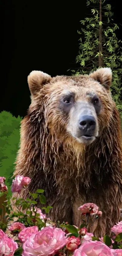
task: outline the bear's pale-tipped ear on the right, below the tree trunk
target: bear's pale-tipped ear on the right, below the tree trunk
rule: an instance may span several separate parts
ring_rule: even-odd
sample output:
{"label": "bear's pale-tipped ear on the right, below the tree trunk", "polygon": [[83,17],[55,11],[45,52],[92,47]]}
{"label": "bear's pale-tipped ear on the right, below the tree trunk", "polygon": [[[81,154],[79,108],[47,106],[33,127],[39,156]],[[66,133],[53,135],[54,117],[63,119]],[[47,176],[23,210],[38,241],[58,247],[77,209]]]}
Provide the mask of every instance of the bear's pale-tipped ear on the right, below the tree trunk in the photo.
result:
{"label": "bear's pale-tipped ear on the right, below the tree trunk", "polygon": [[100,82],[107,90],[110,89],[112,81],[112,71],[110,67],[99,68],[89,75],[90,78]]}

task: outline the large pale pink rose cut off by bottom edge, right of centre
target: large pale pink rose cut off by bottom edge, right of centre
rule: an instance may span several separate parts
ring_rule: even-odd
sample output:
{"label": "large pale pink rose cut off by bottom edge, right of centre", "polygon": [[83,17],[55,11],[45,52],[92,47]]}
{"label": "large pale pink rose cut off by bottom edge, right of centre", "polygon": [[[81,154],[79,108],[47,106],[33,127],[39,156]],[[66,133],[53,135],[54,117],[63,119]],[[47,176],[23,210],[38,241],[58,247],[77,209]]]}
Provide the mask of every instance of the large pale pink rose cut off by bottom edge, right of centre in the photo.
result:
{"label": "large pale pink rose cut off by bottom edge, right of centre", "polygon": [[[77,250],[74,251],[73,256],[114,256],[111,249],[99,241],[84,243]],[[83,252],[85,254],[81,254]]]}

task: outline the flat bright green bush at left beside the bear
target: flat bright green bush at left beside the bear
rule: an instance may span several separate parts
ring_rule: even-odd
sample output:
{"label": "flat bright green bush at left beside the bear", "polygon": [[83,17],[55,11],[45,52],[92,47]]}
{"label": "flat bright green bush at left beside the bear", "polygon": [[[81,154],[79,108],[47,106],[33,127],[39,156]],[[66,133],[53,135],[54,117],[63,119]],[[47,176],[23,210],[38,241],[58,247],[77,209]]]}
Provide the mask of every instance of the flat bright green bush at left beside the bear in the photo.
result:
{"label": "flat bright green bush at left beside the bear", "polygon": [[15,167],[20,141],[20,122],[22,118],[11,113],[0,113],[0,173],[6,177],[8,192],[11,193],[12,175]]}

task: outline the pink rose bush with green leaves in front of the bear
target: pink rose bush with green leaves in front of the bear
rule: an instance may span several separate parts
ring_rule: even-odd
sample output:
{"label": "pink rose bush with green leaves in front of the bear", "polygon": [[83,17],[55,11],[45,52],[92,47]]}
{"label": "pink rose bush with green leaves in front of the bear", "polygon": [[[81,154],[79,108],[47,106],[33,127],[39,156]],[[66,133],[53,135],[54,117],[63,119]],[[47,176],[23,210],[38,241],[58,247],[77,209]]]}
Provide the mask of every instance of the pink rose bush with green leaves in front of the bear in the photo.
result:
{"label": "pink rose bush with green leaves in front of the bear", "polygon": [[[17,175],[12,182],[12,192],[20,193],[21,189],[28,189],[30,182],[29,177]],[[7,191],[5,178],[0,177],[0,197],[4,193],[7,196],[4,204],[6,223],[0,222],[0,256],[122,256],[122,221],[112,227],[112,239],[108,235],[99,238],[87,232],[89,216],[95,215],[96,220],[102,215],[96,204],[87,203],[78,208],[87,218],[80,227],[76,227],[68,222],[53,223],[48,218],[46,214],[52,207],[45,207],[43,189],[30,193],[26,199],[10,198]],[[36,200],[44,207],[37,208]],[[11,237],[6,231],[11,233]]]}

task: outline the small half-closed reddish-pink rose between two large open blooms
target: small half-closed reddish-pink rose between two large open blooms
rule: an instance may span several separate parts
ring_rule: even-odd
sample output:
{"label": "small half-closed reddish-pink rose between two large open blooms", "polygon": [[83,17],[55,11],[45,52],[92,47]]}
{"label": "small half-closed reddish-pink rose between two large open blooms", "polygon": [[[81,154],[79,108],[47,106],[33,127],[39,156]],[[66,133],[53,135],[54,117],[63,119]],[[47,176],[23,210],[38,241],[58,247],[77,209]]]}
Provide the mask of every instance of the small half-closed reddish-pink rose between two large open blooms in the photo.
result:
{"label": "small half-closed reddish-pink rose between two large open blooms", "polygon": [[75,237],[75,236],[71,236],[68,237],[67,243],[66,243],[66,247],[69,251],[74,251],[75,249],[77,249],[78,245],[80,245],[80,239]]}

